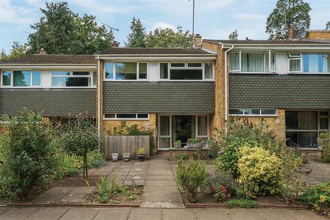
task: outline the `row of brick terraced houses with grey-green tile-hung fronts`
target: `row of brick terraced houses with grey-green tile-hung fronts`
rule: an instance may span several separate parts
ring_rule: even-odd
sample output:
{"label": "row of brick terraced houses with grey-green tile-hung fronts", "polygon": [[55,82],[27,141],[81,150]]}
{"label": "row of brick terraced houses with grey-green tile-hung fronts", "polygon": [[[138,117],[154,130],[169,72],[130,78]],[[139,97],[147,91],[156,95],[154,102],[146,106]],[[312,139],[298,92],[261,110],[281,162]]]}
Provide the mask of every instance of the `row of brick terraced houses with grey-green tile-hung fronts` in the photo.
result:
{"label": "row of brick terraced houses with grey-green tile-hung fronts", "polygon": [[0,115],[28,107],[65,122],[87,112],[103,133],[122,122],[153,129],[159,151],[213,138],[230,117],[266,118],[278,139],[315,148],[318,134],[330,131],[329,33],[300,41],[197,34],[191,49],[113,47],[2,61]]}

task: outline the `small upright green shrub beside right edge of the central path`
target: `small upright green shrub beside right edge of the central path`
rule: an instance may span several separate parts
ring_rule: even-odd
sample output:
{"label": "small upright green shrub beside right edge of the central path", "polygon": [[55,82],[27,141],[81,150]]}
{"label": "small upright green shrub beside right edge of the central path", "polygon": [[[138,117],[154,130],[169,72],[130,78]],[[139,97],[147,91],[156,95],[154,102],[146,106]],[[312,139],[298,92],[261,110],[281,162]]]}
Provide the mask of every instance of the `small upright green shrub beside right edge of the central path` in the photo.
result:
{"label": "small upright green shrub beside right edge of the central path", "polygon": [[205,162],[190,158],[185,164],[180,162],[177,166],[177,182],[187,192],[189,201],[197,201],[197,191],[208,177]]}

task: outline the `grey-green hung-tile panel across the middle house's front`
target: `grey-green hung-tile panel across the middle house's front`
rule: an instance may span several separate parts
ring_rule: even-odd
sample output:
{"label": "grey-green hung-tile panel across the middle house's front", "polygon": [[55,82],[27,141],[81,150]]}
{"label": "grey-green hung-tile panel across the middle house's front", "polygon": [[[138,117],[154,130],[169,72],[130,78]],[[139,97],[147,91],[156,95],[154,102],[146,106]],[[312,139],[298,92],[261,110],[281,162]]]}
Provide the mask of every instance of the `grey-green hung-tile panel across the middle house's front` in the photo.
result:
{"label": "grey-green hung-tile panel across the middle house's front", "polygon": [[214,82],[104,82],[104,113],[214,113]]}

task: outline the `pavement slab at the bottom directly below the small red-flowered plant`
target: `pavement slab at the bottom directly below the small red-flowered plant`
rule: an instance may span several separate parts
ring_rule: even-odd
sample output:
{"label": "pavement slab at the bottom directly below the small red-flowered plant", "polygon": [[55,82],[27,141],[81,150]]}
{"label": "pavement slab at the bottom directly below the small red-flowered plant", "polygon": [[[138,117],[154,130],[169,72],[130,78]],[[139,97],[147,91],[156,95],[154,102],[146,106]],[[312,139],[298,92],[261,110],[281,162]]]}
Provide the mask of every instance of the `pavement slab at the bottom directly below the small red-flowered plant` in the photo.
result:
{"label": "pavement slab at the bottom directly below the small red-flowered plant", "polygon": [[196,208],[194,211],[197,220],[231,220],[229,213],[224,208]]}

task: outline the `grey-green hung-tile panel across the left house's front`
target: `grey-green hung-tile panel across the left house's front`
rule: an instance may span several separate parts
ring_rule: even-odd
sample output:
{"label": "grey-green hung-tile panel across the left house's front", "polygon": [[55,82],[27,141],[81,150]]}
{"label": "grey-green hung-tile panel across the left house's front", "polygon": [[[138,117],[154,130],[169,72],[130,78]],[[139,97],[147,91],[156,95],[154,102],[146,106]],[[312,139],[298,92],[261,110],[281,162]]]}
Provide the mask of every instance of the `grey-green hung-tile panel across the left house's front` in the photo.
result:
{"label": "grey-green hung-tile panel across the left house's front", "polygon": [[44,116],[96,115],[96,89],[0,89],[0,115],[24,107]]}

